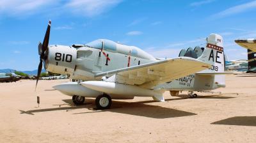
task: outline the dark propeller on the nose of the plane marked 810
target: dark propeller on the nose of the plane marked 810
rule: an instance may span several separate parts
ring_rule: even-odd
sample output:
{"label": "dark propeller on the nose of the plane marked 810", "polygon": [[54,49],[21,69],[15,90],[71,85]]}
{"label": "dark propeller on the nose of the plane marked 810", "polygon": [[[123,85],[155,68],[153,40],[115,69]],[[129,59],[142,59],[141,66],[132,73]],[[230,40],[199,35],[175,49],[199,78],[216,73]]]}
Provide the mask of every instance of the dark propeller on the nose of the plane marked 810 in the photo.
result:
{"label": "dark propeller on the nose of the plane marked 810", "polygon": [[45,54],[45,51],[48,48],[48,44],[49,44],[49,38],[50,38],[50,31],[51,31],[51,20],[49,21],[49,24],[47,26],[47,30],[44,36],[44,42],[43,44],[41,42],[39,42],[38,44],[38,54],[40,55],[40,63],[38,65],[38,70],[37,70],[37,76],[36,76],[36,86],[38,83],[38,79],[40,77],[40,74],[42,72],[42,68],[43,68],[43,61],[45,59],[47,59],[47,54]]}

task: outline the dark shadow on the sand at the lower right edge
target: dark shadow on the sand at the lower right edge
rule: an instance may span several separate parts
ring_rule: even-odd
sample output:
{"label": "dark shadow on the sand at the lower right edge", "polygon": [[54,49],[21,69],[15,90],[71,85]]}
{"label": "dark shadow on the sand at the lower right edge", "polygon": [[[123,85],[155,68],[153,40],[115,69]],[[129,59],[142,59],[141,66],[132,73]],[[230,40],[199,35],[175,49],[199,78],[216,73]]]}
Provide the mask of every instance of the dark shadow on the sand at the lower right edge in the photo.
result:
{"label": "dark shadow on the sand at the lower right edge", "polygon": [[236,116],[229,117],[211,124],[225,124],[236,126],[256,126],[256,116]]}

